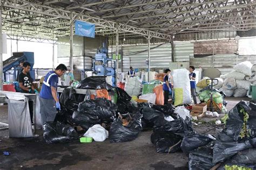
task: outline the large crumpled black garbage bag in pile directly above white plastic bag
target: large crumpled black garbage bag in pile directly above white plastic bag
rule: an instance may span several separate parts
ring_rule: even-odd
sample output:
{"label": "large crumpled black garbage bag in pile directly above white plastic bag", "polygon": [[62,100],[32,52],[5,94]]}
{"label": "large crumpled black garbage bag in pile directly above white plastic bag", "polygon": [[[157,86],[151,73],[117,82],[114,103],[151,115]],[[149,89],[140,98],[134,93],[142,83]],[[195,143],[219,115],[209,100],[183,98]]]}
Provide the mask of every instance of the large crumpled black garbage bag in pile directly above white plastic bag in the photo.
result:
{"label": "large crumpled black garbage bag in pile directly above white plastic bag", "polygon": [[77,111],[90,113],[95,119],[97,117],[101,122],[109,123],[116,116],[117,105],[106,98],[96,98],[79,103]]}

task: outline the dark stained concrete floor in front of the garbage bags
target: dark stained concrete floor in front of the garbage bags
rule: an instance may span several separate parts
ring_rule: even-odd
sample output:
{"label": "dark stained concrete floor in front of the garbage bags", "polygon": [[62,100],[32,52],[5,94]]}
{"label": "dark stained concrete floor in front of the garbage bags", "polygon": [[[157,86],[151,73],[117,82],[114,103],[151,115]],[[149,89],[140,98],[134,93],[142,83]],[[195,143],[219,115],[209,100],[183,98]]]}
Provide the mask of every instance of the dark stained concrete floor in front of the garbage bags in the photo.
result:
{"label": "dark stained concrete floor in front of the garbage bags", "polygon": [[[226,98],[230,110],[240,100]],[[223,116],[223,115],[221,115]],[[204,118],[204,121],[219,118]],[[0,122],[8,123],[6,105],[0,106]],[[194,129],[203,133],[214,124],[199,124]],[[221,129],[208,133],[217,134]],[[112,144],[79,141],[63,144],[45,144],[41,134],[35,138],[9,138],[8,130],[0,131],[0,169],[188,169],[188,157],[182,153],[159,154],[150,141],[151,131],[141,132],[136,140]],[[11,152],[4,156],[3,151]]]}

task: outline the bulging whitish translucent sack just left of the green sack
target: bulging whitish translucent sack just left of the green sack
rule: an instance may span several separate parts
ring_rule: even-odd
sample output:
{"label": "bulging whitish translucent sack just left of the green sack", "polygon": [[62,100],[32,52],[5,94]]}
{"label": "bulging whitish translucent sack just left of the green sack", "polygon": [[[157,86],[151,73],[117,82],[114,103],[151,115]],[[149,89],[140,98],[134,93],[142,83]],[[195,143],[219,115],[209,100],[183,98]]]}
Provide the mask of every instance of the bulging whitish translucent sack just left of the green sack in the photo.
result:
{"label": "bulging whitish translucent sack just left of the green sack", "polygon": [[126,79],[124,90],[130,96],[138,96],[140,94],[140,84],[138,77],[129,77]]}

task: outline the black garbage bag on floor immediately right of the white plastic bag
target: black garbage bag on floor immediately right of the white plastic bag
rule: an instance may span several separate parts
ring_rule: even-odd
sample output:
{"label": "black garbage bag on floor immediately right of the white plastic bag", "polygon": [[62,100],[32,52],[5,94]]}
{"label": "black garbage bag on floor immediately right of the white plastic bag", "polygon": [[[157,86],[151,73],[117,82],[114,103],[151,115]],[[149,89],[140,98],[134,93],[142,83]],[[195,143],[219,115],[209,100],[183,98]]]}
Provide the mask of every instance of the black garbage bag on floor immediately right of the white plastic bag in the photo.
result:
{"label": "black garbage bag on floor immediately right of the white plastic bag", "polygon": [[136,139],[142,131],[141,118],[142,115],[138,112],[127,126],[123,125],[121,118],[114,119],[109,131],[110,142],[119,143]]}

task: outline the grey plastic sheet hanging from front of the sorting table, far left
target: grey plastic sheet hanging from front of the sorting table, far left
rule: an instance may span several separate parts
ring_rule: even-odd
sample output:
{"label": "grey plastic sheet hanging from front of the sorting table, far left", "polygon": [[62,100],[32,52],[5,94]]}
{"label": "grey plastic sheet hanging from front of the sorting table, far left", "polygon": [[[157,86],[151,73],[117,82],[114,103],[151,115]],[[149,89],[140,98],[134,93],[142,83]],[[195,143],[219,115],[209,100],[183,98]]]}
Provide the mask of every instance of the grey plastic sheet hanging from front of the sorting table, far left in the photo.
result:
{"label": "grey plastic sheet hanging from front of the sorting table, far left", "polygon": [[10,138],[33,137],[29,102],[7,99]]}

